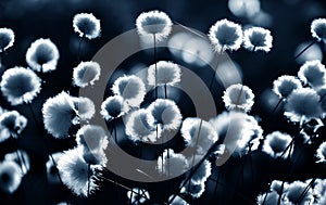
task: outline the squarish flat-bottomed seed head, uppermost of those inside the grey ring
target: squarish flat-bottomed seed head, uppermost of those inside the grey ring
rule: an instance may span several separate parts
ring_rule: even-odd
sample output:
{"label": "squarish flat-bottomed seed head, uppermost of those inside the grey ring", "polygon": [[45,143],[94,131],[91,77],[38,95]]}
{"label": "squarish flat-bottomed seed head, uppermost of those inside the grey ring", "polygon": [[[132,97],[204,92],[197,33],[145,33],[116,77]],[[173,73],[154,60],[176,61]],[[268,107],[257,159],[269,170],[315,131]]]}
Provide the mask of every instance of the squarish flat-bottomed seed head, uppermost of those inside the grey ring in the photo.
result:
{"label": "squarish flat-bottomed seed head, uppermost of those inside the grey ring", "polygon": [[[156,66],[156,72],[155,72]],[[180,82],[181,71],[180,67],[172,62],[159,61],[148,68],[148,84],[150,86],[175,86]],[[155,82],[155,80],[158,80]]]}

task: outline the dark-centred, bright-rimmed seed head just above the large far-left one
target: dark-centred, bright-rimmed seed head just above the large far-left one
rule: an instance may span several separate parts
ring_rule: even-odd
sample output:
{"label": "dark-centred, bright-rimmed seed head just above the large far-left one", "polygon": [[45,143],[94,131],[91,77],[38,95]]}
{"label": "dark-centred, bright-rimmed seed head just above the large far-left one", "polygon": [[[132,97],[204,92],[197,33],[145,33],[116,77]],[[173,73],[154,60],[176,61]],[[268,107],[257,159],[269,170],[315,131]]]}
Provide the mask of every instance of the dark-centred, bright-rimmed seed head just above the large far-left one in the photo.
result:
{"label": "dark-centred, bright-rimmed seed head just above the large far-left one", "polygon": [[26,62],[32,69],[48,73],[57,69],[59,56],[57,46],[50,39],[40,38],[28,48]]}

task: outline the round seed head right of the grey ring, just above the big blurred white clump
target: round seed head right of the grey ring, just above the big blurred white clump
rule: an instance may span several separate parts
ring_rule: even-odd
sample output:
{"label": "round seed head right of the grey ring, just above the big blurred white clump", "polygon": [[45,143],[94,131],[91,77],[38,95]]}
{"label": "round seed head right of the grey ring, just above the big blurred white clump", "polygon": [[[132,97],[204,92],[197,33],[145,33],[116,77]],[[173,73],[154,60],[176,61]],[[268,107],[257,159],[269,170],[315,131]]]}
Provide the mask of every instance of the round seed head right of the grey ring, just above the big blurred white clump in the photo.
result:
{"label": "round seed head right of the grey ring, just above the big blurred white clump", "polygon": [[254,94],[249,87],[236,84],[229,86],[224,91],[223,101],[228,111],[239,110],[249,112],[253,105],[253,98]]}

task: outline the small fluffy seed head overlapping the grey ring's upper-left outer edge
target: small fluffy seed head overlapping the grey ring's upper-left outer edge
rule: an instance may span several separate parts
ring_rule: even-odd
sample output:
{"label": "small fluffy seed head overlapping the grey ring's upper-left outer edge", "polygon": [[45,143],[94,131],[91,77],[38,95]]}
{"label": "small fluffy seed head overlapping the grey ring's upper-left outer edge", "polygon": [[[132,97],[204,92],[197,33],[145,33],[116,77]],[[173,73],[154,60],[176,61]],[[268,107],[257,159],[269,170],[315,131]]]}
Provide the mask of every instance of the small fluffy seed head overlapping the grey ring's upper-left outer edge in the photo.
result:
{"label": "small fluffy seed head overlapping the grey ring's upper-left outer edge", "polygon": [[93,86],[95,81],[100,79],[101,67],[97,62],[80,62],[73,72],[73,84],[77,87],[85,88]]}

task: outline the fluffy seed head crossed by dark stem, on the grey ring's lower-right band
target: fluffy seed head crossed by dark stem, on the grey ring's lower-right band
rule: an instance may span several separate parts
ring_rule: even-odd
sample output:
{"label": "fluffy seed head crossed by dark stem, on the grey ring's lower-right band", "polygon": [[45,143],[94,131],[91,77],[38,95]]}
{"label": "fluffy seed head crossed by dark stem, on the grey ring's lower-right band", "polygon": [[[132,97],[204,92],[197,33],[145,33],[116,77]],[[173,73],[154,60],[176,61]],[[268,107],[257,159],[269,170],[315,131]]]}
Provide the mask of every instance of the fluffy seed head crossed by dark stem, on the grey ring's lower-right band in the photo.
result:
{"label": "fluffy seed head crossed by dark stem, on the grey ring's lower-right band", "polygon": [[186,144],[198,154],[204,154],[218,140],[213,126],[200,118],[186,118],[180,131]]}

